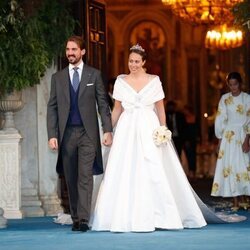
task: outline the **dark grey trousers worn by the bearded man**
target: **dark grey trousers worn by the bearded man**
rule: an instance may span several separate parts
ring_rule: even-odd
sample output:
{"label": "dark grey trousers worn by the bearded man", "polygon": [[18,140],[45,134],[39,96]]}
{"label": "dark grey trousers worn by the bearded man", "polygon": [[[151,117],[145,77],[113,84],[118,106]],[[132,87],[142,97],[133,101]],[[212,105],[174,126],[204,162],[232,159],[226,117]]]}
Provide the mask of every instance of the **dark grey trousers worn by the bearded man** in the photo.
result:
{"label": "dark grey trousers worn by the bearded man", "polygon": [[89,221],[96,150],[83,126],[66,127],[61,154],[72,220]]}

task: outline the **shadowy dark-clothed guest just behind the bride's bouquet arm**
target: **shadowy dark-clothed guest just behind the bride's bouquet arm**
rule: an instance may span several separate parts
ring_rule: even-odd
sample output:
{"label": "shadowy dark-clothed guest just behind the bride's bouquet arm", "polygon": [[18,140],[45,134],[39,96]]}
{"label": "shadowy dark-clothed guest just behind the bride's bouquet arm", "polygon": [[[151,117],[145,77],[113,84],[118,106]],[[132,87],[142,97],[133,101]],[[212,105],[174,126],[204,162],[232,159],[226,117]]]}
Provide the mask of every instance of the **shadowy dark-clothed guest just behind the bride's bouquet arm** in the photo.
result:
{"label": "shadowy dark-clothed guest just behind the bride's bouquet arm", "polygon": [[168,101],[166,104],[167,126],[172,132],[175,148],[181,159],[181,152],[185,142],[186,119],[185,115],[176,110],[176,103]]}

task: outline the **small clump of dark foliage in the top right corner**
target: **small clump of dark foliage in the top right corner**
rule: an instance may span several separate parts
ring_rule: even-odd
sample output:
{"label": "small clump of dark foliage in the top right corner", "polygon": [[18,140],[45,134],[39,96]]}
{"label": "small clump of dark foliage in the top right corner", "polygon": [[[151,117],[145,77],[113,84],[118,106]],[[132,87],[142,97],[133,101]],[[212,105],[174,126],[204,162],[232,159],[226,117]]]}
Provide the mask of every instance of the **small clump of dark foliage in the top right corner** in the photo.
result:
{"label": "small clump of dark foliage in the top right corner", "polygon": [[246,33],[250,32],[250,1],[244,0],[236,4],[232,9],[234,15],[234,24],[243,28]]}

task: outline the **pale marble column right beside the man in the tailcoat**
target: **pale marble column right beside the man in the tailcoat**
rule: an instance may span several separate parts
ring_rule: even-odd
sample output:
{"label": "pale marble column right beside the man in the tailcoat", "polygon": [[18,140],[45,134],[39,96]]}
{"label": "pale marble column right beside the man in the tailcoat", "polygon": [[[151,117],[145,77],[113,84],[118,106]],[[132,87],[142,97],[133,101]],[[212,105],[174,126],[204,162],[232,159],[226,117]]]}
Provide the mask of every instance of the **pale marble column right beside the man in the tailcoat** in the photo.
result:
{"label": "pale marble column right beside the man in the tailcoat", "polygon": [[57,152],[48,147],[47,136],[47,102],[50,92],[51,75],[55,67],[47,70],[45,76],[37,85],[37,137],[39,162],[39,197],[45,215],[57,215],[63,212],[58,198],[58,176],[56,173]]}

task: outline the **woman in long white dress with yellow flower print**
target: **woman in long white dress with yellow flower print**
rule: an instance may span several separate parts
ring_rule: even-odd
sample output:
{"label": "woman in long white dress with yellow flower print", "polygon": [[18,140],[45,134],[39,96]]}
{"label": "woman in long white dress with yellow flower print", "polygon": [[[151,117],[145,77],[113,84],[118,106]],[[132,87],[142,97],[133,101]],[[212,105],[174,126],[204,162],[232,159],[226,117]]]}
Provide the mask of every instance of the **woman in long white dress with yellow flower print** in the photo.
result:
{"label": "woman in long white dress with yellow flower print", "polygon": [[250,96],[241,90],[238,72],[229,73],[226,81],[230,92],[221,97],[215,119],[219,152],[211,195],[233,197],[237,211],[239,198],[243,202],[250,195]]}

